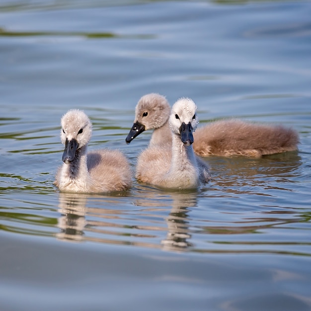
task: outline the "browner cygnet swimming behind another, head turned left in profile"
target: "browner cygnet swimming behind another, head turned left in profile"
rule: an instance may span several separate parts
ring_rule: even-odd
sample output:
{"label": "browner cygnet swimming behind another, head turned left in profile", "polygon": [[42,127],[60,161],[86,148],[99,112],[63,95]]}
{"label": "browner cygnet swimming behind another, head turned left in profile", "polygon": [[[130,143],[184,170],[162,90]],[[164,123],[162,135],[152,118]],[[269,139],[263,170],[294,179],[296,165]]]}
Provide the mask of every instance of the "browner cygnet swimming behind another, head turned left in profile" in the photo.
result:
{"label": "browner cygnet swimming behind another, head turned left in profile", "polygon": [[[145,130],[154,130],[150,145],[171,143],[169,103],[162,95],[144,95],[135,110],[135,122],[126,138],[129,144]],[[298,134],[281,125],[259,125],[241,120],[221,120],[198,128],[193,150],[199,156],[261,157],[297,150]]]}

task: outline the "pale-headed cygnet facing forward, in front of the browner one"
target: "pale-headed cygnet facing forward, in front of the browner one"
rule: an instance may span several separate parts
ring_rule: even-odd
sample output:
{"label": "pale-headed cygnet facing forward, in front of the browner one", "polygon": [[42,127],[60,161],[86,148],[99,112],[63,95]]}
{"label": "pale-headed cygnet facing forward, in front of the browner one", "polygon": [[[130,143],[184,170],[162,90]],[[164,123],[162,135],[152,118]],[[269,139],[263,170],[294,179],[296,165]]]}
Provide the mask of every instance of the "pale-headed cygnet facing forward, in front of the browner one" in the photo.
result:
{"label": "pale-headed cygnet facing forward, in front of the browner one", "polygon": [[172,144],[148,147],[138,158],[138,181],[170,189],[194,189],[208,182],[208,167],[195,156],[193,131],[197,106],[189,98],[175,102],[169,117]]}

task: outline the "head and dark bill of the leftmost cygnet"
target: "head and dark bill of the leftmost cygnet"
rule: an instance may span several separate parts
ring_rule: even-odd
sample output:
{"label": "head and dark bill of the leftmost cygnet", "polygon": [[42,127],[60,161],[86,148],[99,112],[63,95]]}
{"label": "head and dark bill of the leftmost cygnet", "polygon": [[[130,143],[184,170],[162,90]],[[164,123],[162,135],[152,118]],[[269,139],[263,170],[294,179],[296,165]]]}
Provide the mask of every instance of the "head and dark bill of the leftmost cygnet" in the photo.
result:
{"label": "head and dark bill of the leftmost cygnet", "polygon": [[61,120],[61,141],[65,145],[63,161],[72,162],[77,151],[87,146],[92,135],[92,124],[88,116],[81,110],[69,110]]}

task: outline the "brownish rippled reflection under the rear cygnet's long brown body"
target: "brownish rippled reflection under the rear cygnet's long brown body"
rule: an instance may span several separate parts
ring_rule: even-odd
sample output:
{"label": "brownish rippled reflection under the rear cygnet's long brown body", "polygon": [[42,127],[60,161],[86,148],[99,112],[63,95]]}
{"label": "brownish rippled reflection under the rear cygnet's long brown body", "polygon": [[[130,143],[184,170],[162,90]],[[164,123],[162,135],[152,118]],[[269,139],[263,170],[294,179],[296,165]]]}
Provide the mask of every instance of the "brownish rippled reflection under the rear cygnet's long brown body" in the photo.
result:
{"label": "brownish rippled reflection under the rear cygnet's long brown body", "polygon": [[223,195],[231,196],[273,196],[275,192],[270,190],[288,191],[284,185],[295,182],[302,164],[297,152],[261,159],[210,157],[206,160],[211,166],[213,176],[210,190],[218,190]]}

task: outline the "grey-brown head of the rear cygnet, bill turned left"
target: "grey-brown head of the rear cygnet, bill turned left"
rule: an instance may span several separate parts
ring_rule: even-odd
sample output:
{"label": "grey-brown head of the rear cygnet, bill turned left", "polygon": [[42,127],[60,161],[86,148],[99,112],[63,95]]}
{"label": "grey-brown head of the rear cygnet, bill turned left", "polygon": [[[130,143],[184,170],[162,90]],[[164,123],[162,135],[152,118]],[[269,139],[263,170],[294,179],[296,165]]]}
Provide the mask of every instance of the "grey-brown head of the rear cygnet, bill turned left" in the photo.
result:
{"label": "grey-brown head of the rear cygnet, bill turned left", "polygon": [[133,127],[125,140],[127,144],[142,132],[161,127],[167,121],[169,111],[169,103],[164,96],[150,93],[141,97],[136,105]]}

